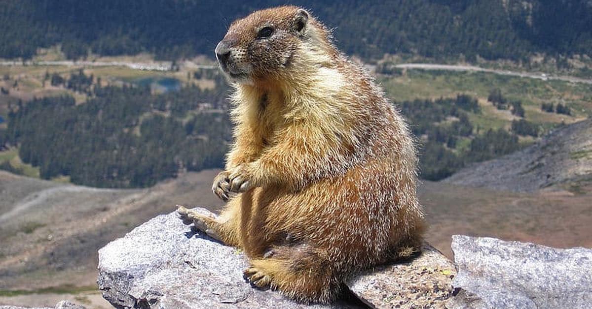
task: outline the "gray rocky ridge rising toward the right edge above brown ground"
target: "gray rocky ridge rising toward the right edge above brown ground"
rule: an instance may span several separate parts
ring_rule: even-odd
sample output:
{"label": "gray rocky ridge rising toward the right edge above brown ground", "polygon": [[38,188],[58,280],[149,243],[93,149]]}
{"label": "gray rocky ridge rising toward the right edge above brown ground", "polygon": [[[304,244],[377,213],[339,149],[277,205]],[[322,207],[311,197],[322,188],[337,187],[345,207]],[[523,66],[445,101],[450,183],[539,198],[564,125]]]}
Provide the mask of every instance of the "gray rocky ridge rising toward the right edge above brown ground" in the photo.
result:
{"label": "gray rocky ridge rising toward the right edge above brown ground", "polygon": [[592,119],[556,129],[522,151],[469,165],[443,181],[516,192],[577,192],[592,183]]}

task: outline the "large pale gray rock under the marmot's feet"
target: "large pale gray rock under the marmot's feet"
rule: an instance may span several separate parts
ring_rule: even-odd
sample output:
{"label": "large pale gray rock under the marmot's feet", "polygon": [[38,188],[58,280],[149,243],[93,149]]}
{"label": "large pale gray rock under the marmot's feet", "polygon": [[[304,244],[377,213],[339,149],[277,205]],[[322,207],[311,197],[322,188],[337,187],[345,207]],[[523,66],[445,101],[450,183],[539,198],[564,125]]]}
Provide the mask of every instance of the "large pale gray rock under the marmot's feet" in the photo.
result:
{"label": "large pale gray rock under the marmot's feet", "polygon": [[117,308],[355,308],[306,306],[243,280],[247,261],[183,225],[175,213],[157,216],[99,250],[99,288]]}

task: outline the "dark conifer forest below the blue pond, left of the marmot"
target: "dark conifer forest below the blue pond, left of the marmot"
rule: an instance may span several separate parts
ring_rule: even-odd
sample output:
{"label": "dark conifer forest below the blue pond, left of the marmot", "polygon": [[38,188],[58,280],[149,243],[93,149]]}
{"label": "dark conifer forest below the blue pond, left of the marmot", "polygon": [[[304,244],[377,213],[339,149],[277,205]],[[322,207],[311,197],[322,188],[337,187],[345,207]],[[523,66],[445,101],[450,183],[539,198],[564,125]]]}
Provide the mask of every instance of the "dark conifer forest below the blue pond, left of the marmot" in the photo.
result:
{"label": "dark conifer forest below the blue pond, left of the marmot", "polygon": [[[89,76],[72,74],[79,89]],[[180,171],[222,167],[231,141],[226,86],[184,87],[151,94],[149,87],[95,84],[91,99],[44,97],[11,106],[5,139],[41,178],[68,175],[75,184],[147,187]],[[207,102],[207,103],[204,103]],[[206,104],[207,110],[200,112]],[[7,165],[8,167],[8,165]]]}

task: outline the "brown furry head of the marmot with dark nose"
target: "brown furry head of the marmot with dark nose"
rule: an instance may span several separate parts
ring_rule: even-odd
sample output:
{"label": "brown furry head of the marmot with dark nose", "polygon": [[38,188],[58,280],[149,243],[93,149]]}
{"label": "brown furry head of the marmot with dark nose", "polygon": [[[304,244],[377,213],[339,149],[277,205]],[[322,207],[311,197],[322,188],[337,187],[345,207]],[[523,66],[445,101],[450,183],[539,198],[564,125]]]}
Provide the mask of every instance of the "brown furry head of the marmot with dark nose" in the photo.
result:
{"label": "brown furry head of the marmot with dark nose", "polygon": [[305,9],[281,6],[234,21],[215,53],[233,82],[253,83],[289,74],[303,50],[332,54],[330,32]]}

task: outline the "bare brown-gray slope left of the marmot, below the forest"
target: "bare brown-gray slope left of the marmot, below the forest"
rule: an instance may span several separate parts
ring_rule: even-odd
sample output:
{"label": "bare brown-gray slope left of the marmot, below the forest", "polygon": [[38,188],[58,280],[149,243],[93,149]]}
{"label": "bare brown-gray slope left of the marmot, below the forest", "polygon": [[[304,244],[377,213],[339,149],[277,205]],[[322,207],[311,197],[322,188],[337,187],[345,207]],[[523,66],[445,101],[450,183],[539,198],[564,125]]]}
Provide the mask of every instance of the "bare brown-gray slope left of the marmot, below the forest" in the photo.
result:
{"label": "bare brown-gray slope left of the marmot, below the forest", "polygon": [[96,251],[111,240],[170,211],[176,203],[200,200],[217,209],[221,201],[210,189],[215,173],[185,174],[152,188],[115,190],[0,171],[0,290],[36,290],[72,282],[92,287]]}

